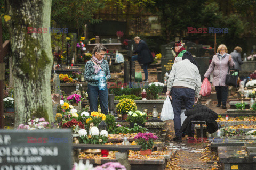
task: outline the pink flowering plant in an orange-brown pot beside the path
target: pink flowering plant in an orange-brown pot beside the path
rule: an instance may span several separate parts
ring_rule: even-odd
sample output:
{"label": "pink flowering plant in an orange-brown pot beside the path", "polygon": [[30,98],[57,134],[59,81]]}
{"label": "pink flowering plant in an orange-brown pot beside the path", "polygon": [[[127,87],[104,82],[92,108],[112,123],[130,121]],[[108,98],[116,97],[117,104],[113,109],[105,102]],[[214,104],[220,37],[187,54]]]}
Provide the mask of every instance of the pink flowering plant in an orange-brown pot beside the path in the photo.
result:
{"label": "pink flowering plant in an orange-brown pot beside the path", "polygon": [[153,133],[138,133],[134,139],[137,141],[138,145],[141,145],[140,154],[150,155],[152,152],[152,147],[154,145],[154,140],[158,139]]}

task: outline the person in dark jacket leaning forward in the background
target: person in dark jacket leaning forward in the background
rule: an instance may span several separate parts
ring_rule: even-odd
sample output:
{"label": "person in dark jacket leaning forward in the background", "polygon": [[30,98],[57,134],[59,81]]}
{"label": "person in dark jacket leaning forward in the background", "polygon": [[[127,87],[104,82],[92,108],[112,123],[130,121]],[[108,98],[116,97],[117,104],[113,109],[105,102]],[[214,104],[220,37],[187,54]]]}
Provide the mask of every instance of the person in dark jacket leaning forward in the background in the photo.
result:
{"label": "person in dark jacket leaning forward in the background", "polygon": [[132,61],[137,60],[139,64],[143,64],[143,70],[145,74],[145,80],[148,81],[148,64],[151,64],[154,61],[154,58],[148,48],[148,45],[145,41],[141,40],[140,37],[135,37],[134,41],[138,44],[137,49],[135,50],[135,54],[132,56]]}

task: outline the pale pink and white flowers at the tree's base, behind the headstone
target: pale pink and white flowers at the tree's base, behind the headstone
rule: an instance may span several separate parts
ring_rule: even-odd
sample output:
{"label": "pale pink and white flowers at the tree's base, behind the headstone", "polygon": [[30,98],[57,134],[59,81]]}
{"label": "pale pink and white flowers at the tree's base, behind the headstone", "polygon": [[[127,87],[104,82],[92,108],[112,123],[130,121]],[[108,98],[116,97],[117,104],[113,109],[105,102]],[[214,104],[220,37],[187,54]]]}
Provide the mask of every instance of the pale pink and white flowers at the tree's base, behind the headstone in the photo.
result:
{"label": "pale pink and white flowers at the tree's base, behind the headstone", "polygon": [[42,118],[29,119],[27,123],[20,124],[18,129],[36,130],[36,129],[46,129],[49,126],[49,122]]}

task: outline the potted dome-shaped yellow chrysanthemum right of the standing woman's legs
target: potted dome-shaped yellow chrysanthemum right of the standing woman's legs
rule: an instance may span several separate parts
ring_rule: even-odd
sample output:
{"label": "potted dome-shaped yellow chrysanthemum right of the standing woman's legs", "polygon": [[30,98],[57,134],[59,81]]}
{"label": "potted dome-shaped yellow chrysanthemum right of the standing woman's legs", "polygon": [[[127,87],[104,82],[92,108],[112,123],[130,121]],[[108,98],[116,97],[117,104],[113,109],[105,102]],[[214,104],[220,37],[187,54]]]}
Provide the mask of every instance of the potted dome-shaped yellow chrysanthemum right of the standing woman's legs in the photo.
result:
{"label": "potted dome-shaped yellow chrysanthemum right of the standing woman's legs", "polygon": [[132,99],[124,98],[118,102],[116,105],[116,112],[122,115],[122,119],[126,120],[128,112],[137,110],[135,101]]}

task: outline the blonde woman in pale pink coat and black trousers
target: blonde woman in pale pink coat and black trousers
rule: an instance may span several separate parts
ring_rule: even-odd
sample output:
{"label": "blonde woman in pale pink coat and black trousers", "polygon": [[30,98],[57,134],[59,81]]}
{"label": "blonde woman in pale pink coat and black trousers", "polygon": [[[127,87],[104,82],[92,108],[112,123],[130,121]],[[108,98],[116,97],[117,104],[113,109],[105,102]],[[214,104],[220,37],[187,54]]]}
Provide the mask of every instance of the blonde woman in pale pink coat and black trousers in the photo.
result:
{"label": "blonde woman in pale pink coat and black trousers", "polygon": [[234,62],[231,55],[228,54],[228,49],[224,44],[219,45],[216,55],[212,57],[212,62],[204,74],[204,77],[208,78],[213,71],[213,86],[216,88],[216,95],[218,104],[226,109],[228,86],[225,84],[226,76],[228,74],[228,66],[233,67]]}

